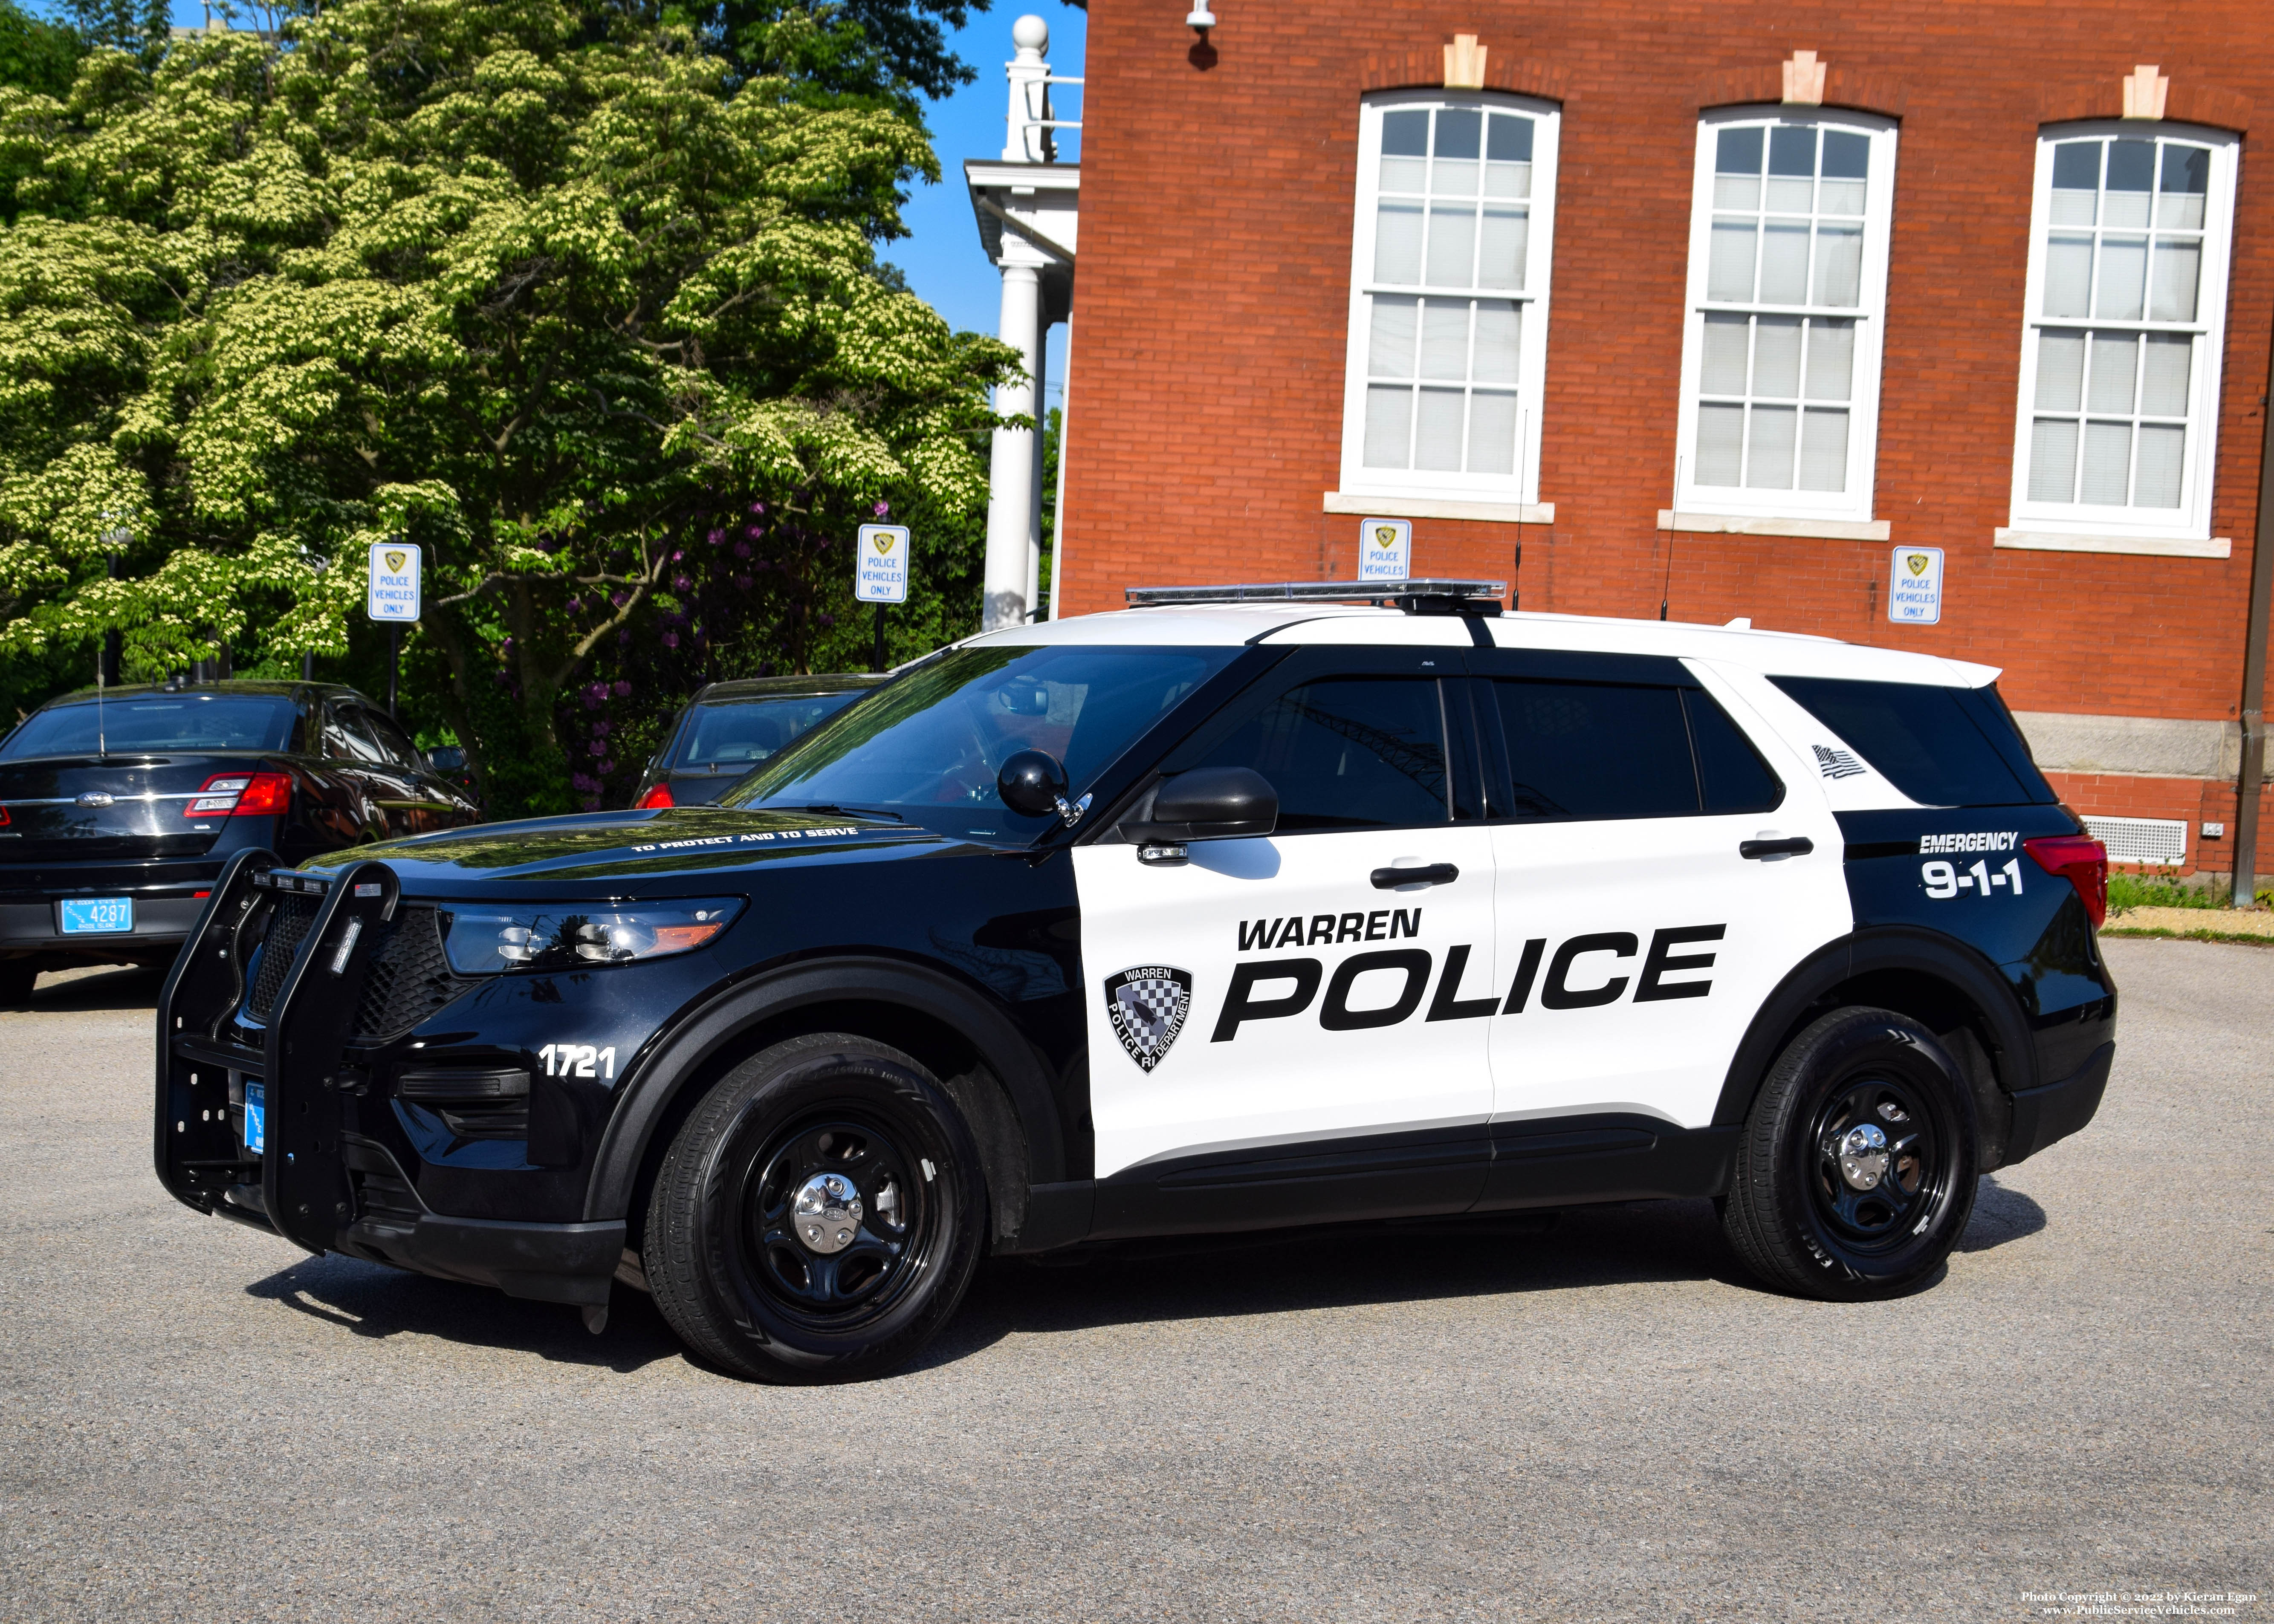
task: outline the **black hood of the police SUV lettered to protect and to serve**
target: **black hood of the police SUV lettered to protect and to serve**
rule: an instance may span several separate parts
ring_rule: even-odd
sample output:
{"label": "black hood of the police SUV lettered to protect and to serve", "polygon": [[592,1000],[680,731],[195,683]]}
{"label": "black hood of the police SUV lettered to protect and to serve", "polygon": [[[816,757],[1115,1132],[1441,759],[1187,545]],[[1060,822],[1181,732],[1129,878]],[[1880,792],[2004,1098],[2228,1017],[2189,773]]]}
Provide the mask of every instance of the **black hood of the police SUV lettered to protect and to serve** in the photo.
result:
{"label": "black hood of the police SUV lettered to protect and to serve", "polygon": [[480,823],[441,835],[334,851],[302,867],[337,871],[375,857],[405,896],[480,896],[498,885],[528,896],[694,896],[741,889],[725,876],[773,864],[912,857],[962,842],[878,817],[662,807]]}

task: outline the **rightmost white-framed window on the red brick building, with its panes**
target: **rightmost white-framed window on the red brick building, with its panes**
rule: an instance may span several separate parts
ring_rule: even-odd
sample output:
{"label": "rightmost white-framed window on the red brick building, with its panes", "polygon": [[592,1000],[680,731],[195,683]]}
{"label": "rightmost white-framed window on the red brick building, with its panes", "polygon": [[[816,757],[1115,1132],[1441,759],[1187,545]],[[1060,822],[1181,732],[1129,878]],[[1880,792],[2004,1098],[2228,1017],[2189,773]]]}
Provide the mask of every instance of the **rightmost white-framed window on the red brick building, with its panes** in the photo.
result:
{"label": "rightmost white-framed window on the red brick building, with its panes", "polygon": [[2015,528],[2210,535],[2235,139],[2083,123],[2038,136]]}

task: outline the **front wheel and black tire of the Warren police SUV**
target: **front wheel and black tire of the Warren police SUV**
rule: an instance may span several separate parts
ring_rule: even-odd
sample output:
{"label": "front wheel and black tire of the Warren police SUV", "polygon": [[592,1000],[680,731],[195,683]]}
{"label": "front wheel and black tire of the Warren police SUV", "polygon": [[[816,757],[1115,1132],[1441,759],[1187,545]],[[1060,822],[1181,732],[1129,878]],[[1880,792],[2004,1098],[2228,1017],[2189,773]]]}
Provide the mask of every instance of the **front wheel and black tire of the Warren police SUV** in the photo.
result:
{"label": "front wheel and black tire of the Warren police SUV", "polygon": [[939,1080],[821,1033],[744,1060],[696,1105],[657,1171],[641,1265],[696,1356],[832,1383],[914,1358],[985,1242],[978,1146]]}

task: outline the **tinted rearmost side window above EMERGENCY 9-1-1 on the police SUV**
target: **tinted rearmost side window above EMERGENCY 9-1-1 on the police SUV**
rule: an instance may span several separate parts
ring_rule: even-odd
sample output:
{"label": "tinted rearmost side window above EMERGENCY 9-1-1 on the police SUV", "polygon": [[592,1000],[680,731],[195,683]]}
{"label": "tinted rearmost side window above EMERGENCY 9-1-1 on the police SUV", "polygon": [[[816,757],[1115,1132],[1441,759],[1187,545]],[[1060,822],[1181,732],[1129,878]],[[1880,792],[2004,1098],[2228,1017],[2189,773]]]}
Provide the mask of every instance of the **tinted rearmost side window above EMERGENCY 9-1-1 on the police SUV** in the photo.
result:
{"label": "tinted rearmost side window above EMERGENCY 9-1-1 on the police SUV", "polygon": [[1994,687],[1771,682],[1922,805],[2049,805],[2056,798]]}

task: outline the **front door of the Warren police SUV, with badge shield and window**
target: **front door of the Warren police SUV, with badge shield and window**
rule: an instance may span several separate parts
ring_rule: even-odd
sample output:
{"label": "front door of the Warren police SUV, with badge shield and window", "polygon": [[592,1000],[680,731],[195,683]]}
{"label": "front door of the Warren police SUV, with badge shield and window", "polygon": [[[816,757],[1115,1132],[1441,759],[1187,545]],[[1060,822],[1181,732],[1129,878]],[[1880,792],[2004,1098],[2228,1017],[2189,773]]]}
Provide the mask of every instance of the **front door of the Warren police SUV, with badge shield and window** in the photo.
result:
{"label": "front door of the Warren police SUV, with badge shield and window", "polygon": [[1458,660],[1298,653],[1169,762],[1260,771],[1276,835],[1076,851],[1101,1231],[1476,1199],[1499,971]]}

